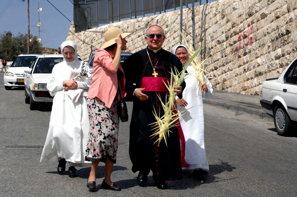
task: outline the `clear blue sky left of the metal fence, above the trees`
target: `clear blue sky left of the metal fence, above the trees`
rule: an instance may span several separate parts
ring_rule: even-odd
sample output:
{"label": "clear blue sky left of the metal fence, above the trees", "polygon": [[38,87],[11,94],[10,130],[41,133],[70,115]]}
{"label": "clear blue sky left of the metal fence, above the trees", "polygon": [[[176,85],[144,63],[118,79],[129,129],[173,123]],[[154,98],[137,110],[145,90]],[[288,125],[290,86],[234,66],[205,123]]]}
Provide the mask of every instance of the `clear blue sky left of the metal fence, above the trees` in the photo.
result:
{"label": "clear blue sky left of the metal fence, above the trees", "polygon": [[[73,20],[73,4],[69,0],[48,0],[69,20]],[[43,47],[57,49],[67,38],[71,22],[56,10],[47,0],[29,0],[30,34],[39,36],[38,2],[40,12],[40,38]],[[12,35],[28,33],[28,2],[25,0],[0,0],[0,33],[12,32]]]}

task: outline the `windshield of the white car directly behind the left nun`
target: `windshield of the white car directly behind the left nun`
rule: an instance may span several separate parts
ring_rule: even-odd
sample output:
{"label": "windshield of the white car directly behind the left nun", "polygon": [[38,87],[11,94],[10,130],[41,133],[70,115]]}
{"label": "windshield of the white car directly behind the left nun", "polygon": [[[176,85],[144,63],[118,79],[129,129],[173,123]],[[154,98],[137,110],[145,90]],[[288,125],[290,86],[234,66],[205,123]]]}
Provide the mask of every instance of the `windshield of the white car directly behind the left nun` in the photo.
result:
{"label": "windshield of the white car directly behind the left nun", "polygon": [[39,58],[32,73],[52,73],[53,67],[62,61],[64,61],[62,57]]}

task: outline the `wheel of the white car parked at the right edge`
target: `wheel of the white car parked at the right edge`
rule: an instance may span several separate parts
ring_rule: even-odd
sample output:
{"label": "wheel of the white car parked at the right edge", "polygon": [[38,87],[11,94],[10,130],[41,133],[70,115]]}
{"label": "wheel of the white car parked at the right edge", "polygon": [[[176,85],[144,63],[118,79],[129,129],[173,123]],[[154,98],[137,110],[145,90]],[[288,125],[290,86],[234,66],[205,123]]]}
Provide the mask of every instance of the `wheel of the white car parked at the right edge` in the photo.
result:
{"label": "wheel of the white car parked at the right edge", "polygon": [[277,134],[281,136],[288,134],[291,127],[291,120],[282,106],[277,105],[274,108],[273,119]]}

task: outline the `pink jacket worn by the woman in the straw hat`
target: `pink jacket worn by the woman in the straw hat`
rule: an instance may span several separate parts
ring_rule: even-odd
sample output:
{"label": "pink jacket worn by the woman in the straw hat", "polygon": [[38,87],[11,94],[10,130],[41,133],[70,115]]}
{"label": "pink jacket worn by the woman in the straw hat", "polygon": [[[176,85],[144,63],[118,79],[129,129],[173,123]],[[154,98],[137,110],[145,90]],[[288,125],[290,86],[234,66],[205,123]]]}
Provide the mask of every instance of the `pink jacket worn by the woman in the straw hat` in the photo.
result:
{"label": "pink jacket worn by the woman in the straw hat", "polygon": [[[87,96],[87,98],[100,99],[105,103],[105,107],[108,108],[111,107],[118,90],[118,77],[112,65],[113,58],[114,55],[111,51],[97,50],[93,63],[92,83]],[[119,69],[122,71],[121,79],[119,80],[120,90],[122,97],[124,97],[126,96],[126,79],[121,65]],[[118,100],[119,98],[118,96]]]}

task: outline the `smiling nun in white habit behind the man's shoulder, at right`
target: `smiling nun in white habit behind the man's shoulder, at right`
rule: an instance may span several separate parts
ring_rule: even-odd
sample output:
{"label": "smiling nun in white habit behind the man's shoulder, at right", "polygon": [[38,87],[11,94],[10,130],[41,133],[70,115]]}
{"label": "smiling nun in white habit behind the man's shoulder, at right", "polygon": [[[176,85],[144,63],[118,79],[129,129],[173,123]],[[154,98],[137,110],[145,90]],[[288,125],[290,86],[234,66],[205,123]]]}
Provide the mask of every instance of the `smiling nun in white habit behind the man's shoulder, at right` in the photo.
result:
{"label": "smiling nun in white habit behind the man's shoulder, at right", "polygon": [[[175,54],[183,65],[189,59],[189,51],[185,45],[177,45],[173,49]],[[193,73],[194,67],[189,65],[188,73]],[[208,161],[206,157],[204,143],[204,120],[203,120],[203,103],[202,98],[212,99],[211,82],[205,78],[205,84],[200,84],[200,81],[193,74],[190,74],[186,79],[186,88],[183,91],[183,98],[178,99],[178,111],[187,110],[186,115],[180,117],[181,128],[185,137],[185,160],[188,167],[183,169],[194,169],[194,177],[205,176],[209,171]]]}

